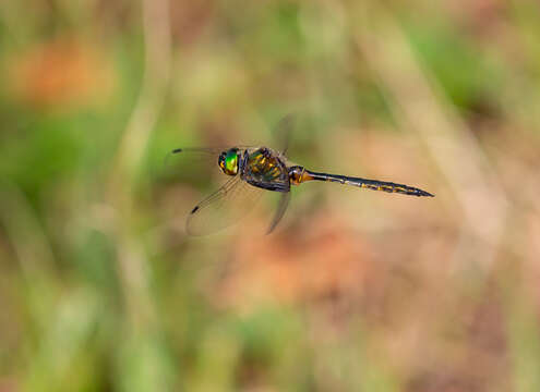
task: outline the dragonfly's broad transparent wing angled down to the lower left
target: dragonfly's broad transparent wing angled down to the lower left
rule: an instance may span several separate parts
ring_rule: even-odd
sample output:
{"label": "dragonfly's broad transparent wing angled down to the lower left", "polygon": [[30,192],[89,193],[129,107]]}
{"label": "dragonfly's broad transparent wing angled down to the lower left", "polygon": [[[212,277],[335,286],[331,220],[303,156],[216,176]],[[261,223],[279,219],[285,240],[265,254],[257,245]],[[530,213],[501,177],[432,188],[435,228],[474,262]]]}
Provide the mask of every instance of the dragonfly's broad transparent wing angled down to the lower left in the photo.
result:
{"label": "dragonfly's broad transparent wing angled down to the lower left", "polygon": [[239,175],[232,177],[193,208],[185,224],[188,234],[212,234],[238,222],[253,209],[263,192]]}

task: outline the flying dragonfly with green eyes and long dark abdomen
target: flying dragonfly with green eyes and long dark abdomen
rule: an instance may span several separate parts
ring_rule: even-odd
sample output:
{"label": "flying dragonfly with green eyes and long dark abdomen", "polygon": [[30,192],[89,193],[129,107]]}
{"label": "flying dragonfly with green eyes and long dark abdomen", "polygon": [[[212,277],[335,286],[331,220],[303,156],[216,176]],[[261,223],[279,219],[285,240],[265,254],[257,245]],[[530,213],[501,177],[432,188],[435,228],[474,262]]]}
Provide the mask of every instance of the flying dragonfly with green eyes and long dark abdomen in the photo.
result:
{"label": "flying dragonfly with green eyes and long dark abdomen", "polygon": [[188,234],[211,234],[238,222],[242,216],[251,211],[263,193],[272,192],[279,196],[279,200],[266,230],[269,234],[285,215],[292,187],[310,181],[333,182],[409,196],[434,197],[429,192],[409,185],[316,172],[292,163],[287,158],[291,123],[292,117],[288,115],[277,125],[277,133],[286,135],[284,137],[286,142],[280,149],[264,146],[231,146],[176,148],[170,151],[170,155],[204,156],[207,160],[214,161],[213,164],[229,177],[220,188],[189,212],[185,224]]}

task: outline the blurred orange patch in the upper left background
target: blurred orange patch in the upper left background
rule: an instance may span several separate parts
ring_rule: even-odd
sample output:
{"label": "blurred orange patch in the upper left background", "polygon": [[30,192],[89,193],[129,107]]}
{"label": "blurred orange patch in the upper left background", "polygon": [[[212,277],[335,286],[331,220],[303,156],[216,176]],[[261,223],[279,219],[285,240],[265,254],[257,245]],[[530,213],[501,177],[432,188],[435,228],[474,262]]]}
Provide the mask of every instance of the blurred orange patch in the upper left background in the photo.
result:
{"label": "blurred orange patch in the upper left background", "polygon": [[112,66],[97,48],[75,38],[53,39],[8,63],[17,99],[40,107],[86,106],[112,91]]}

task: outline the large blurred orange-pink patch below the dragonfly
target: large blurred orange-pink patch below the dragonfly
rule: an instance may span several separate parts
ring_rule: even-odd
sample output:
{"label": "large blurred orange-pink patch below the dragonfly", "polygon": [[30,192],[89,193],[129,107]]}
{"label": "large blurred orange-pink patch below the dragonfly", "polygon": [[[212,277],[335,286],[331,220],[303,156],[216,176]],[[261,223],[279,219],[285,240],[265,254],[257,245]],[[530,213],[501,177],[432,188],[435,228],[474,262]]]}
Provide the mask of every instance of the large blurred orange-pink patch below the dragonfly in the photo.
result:
{"label": "large blurred orange-pink patch below the dragonfly", "polygon": [[372,274],[369,246],[345,222],[319,216],[307,232],[238,240],[218,291],[219,305],[290,304],[358,297]]}

